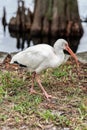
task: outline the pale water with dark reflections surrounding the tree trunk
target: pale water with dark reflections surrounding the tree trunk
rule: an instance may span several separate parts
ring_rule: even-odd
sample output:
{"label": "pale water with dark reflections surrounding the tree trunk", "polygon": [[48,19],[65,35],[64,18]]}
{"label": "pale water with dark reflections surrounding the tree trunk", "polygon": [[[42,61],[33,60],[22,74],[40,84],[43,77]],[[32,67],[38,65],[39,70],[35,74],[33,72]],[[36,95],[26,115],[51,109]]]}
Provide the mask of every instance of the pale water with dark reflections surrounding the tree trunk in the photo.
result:
{"label": "pale water with dark reflections surrounding the tree trunk", "polygon": [[[79,13],[81,19],[87,16],[87,1],[86,0],[78,0],[79,5]],[[21,38],[19,38],[19,34],[16,34],[17,39],[15,38],[15,34],[11,34],[8,32],[8,27],[6,27],[6,32],[3,30],[3,26],[1,23],[2,15],[3,15],[3,7],[6,7],[7,15],[6,19],[9,22],[12,16],[16,15],[17,10],[17,0],[3,0],[0,1],[0,51],[3,52],[16,52],[20,51],[28,46],[32,46],[38,43],[49,43],[52,45],[55,42],[55,39],[51,38],[30,38],[28,34],[21,34]],[[33,11],[34,1],[33,0],[25,0],[25,6]],[[78,39],[68,39],[70,43],[73,45],[71,48],[76,52],[84,52],[87,51],[87,23],[82,23],[84,34],[80,40]],[[26,40],[27,39],[27,40]],[[78,46],[77,46],[78,45]]]}

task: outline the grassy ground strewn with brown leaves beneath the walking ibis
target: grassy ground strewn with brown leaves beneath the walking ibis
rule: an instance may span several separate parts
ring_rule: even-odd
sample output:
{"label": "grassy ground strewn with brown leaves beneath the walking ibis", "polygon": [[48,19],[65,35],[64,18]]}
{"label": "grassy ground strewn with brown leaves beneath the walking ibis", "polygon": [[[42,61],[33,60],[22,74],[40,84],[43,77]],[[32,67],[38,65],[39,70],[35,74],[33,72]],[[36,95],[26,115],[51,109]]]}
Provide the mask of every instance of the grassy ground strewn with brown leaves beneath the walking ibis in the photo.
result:
{"label": "grassy ground strewn with brown leaves beneath the walking ibis", "polygon": [[47,101],[30,95],[31,74],[10,65],[8,56],[0,64],[0,130],[87,130],[87,64],[72,58],[56,69],[40,74],[44,88],[53,95]]}

